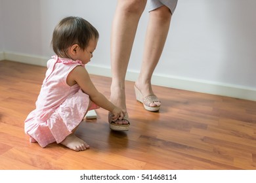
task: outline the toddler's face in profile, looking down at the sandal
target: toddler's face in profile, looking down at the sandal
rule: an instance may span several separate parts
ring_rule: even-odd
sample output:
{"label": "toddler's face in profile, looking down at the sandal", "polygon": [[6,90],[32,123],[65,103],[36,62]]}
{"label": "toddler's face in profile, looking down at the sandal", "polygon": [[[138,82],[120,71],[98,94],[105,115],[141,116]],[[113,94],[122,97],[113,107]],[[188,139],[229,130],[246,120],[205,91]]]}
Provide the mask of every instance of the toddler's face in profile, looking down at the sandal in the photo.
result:
{"label": "toddler's face in profile, looking down at the sandal", "polygon": [[83,64],[87,64],[89,61],[91,61],[91,58],[93,58],[93,52],[97,46],[97,42],[98,41],[92,39],[85,50],[79,49],[77,59],[82,61]]}

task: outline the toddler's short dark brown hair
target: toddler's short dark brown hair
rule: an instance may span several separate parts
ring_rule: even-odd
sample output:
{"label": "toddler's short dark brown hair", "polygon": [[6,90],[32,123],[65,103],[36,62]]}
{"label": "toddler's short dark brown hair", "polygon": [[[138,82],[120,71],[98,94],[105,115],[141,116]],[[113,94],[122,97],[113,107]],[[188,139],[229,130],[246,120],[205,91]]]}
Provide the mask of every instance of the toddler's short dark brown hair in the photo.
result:
{"label": "toddler's short dark brown hair", "polygon": [[96,41],[98,37],[98,31],[89,22],[81,17],[68,16],[54,28],[51,44],[57,56],[68,58],[67,50],[70,46],[78,44],[85,50],[89,41]]}

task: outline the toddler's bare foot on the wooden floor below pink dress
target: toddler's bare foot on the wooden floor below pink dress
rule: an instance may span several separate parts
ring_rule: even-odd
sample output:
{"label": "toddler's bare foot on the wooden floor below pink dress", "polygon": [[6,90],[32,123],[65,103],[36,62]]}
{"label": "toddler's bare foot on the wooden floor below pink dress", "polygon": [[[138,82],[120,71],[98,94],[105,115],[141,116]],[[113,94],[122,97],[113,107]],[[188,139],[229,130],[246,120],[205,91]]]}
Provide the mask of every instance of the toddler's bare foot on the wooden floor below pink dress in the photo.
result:
{"label": "toddler's bare foot on the wooden floor below pink dress", "polygon": [[86,150],[90,147],[85,141],[79,139],[73,133],[71,135],[68,135],[68,137],[66,137],[64,141],[60,142],[60,144],[75,151]]}

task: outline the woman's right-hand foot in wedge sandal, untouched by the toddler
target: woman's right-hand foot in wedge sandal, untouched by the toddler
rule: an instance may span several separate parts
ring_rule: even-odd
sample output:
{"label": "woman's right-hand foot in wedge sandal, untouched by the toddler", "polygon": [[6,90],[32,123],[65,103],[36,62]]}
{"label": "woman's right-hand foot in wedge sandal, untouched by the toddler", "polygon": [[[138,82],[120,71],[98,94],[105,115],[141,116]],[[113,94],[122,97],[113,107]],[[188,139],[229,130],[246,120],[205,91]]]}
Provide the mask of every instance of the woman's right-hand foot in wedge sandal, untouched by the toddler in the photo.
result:
{"label": "woman's right-hand foot in wedge sandal, untouched by the toddler", "polygon": [[[139,90],[140,94],[142,95],[142,98],[146,98],[148,96],[156,96],[152,90],[151,84],[140,84],[140,82],[137,81],[135,82],[135,88]],[[161,106],[161,101],[158,99],[148,103],[148,107],[160,108],[160,106]]]}

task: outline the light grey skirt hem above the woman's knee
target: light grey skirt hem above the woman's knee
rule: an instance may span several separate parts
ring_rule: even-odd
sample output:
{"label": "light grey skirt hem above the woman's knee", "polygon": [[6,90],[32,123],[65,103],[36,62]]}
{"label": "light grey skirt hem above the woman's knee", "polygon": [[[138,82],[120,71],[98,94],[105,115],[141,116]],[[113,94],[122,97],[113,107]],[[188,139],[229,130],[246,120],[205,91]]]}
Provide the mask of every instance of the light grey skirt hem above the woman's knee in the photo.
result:
{"label": "light grey skirt hem above the woman's knee", "polygon": [[171,10],[171,14],[175,11],[178,0],[148,0],[148,11],[155,10],[163,5]]}

